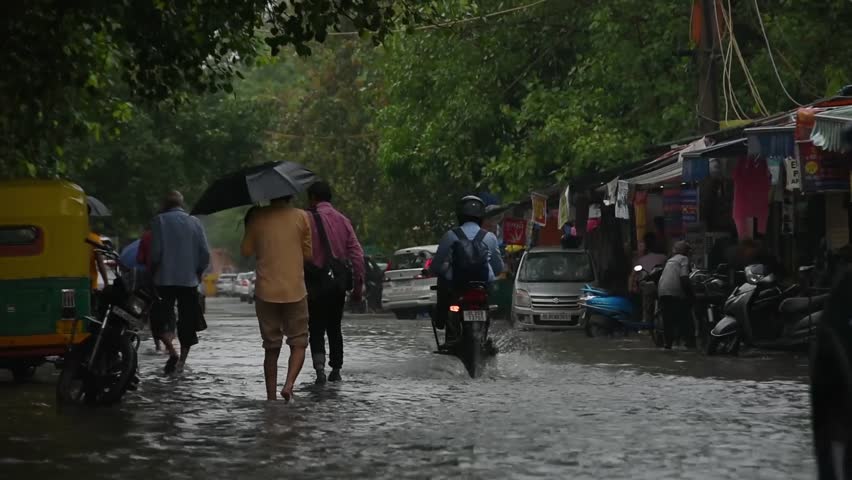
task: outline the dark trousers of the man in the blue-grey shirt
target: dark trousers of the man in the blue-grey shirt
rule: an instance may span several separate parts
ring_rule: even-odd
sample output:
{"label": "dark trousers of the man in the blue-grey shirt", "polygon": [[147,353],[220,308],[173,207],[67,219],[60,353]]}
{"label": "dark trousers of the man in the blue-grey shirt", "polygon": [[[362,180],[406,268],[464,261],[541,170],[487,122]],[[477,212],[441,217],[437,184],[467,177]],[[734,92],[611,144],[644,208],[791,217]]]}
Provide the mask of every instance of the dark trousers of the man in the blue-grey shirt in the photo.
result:
{"label": "dark trousers of the man in the blue-grey shirt", "polygon": [[[178,340],[181,347],[191,347],[198,343],[199,326],[204,323],[198,290],[195,287],[157,287],[160,301],[155,309],[154,322],[161,322],[154,332],[168,333],[174,330],[177,322]],[[175,304],[178,317],[175,319]],[[153,327],[153,325],[152,325]]]}

